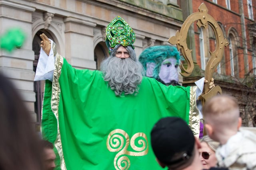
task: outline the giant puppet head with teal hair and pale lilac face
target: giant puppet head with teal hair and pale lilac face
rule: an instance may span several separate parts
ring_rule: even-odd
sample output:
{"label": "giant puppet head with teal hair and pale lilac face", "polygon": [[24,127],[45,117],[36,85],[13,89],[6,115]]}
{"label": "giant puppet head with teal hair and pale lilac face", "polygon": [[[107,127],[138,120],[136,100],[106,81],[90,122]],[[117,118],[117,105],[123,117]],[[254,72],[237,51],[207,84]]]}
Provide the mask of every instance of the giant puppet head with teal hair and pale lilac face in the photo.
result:
{"label": "giant puppet head with teal hair and pale lilac face", "polygon": [[152,77],[165,85],[180,85],[178,83],[178,66],[180,53],[176,47],[157,45],[144,49],[139,61],[146,70],[146,76]]}

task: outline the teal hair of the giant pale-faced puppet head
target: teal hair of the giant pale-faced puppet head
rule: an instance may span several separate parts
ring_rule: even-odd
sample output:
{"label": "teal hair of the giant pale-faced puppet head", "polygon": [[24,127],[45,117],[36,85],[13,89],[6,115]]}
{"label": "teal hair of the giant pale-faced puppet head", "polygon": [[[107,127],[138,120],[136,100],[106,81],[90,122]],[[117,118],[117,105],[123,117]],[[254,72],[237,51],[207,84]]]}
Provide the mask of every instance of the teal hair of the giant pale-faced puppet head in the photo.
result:
{"label": "teal hair of the giant pale-faced puppet head", "polygon": [[147,70],[147,63],[155,63],[156,67],[153,71],[153,78],[158,78],[160,66],[165,59],[175,58],[177,64],[180,64],[180,53],[176,47],[170,45],[158,45],[146,48],[139,56],[139,61]]}

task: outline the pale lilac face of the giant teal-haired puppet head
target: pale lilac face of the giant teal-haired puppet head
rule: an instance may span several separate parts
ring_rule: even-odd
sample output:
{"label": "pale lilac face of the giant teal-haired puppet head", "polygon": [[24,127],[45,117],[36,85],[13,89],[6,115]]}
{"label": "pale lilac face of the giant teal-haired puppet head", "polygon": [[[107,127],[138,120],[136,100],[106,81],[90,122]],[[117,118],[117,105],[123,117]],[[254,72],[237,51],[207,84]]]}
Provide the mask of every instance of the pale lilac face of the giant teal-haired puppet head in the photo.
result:
{"label": "pale lilac face of the giant teal-haired puppet head", "polygon": [[168,84],[173,80],[178,82],[178,66],[178,62],[174,58],[164,60],[160,67],[159,78],[165,84]]}

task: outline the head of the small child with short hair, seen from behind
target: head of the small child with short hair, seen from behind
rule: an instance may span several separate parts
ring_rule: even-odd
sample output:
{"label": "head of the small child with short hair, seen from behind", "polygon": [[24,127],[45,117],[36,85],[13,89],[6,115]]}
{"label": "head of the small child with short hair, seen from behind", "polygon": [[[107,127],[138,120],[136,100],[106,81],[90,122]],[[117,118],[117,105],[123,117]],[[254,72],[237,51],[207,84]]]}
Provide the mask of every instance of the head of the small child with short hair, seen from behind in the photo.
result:
{"label": "head of the small child with short hair, seen from behind", "polygon": [[206,132],[214,141],[224,145],[242,125],[236,98],[218,95],[206,101],[203,107]]}

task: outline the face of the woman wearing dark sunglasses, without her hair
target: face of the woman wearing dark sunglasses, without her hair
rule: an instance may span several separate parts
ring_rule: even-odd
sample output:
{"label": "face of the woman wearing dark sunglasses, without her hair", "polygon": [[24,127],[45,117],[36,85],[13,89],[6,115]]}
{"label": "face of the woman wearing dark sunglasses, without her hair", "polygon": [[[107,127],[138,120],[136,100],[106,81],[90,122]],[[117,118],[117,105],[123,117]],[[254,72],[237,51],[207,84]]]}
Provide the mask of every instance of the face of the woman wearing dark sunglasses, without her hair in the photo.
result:
{"label": "face of the woman wearing dark sunglasses, without her hair", "polygon": [[[201,142],[202,148],[199,149],[199,154],[200,154],[200,160],[204,166],[204,169],[210,169],[210,167],[214,167],[217,164],[217,159],[215,157],[215,152],[210,149],[210,147],[207,145],[206,142]],[[207,155],[207,153],[204,153],[204,157],[202,156],[202,152],[207,152],[210,155]],[[208,159],[206,159],[209,157]]]}

